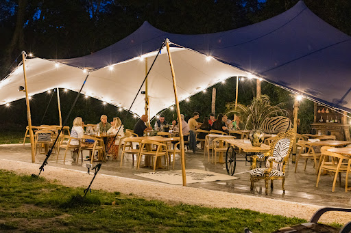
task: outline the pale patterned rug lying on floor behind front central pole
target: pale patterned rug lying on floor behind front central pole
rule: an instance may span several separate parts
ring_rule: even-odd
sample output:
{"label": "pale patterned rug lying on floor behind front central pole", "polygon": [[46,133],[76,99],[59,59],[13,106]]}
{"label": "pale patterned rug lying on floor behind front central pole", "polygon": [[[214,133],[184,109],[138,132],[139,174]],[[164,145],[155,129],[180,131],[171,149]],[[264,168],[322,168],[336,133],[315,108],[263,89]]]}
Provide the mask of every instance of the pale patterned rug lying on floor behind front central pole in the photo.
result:
{"label": "pale patterned rug lying on floor behind front central pole", "polygon": [[[186,169],[185,172],[186,172],[186,184],[239,179],[238,177],[229,176],[227,174],[208,172],[200,169]],[[141,173],[141,174],[136,174],[136,176],[141,176],[152,180],[158,180],[168,184],[183,183],[182,170]]]}

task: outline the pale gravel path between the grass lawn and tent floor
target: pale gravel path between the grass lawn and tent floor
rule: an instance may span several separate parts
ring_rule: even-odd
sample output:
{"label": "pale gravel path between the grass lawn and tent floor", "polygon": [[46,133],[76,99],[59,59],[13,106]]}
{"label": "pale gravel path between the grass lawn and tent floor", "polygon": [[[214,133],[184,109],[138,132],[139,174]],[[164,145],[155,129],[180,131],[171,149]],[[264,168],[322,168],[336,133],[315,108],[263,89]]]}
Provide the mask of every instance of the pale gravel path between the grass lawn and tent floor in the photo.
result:
{"label": "pale gravel path between the grass lawn and tent floor", "polygon": [[[0,169],[7,169],[17,174],[38,174],[40,165],[19,161],[0,159]],[[48,180],[58,180],[66,187],[87,187],[93,174],[61,167],[50,167],[47,165],[40,176]],[[145,180],[134,180],[98,174],[93,182],[92,189],[105,191],[119,191],[124,194],[134,194],[146,199],[161,200],[168,203],[184,203],[197,206],[219,207],[219,208],[242,208],[255,210],[272,215],[283,215],[286,217],[299,217],[311,219],[313,213],[324,206],[272,200],[265,197],[252,197],[236,193],[211,191],[193,187],[182,187],[171,184],[161,184]],[[323,223],[345,224],[351,221],[351,213],[330,212],[322,215]]]}

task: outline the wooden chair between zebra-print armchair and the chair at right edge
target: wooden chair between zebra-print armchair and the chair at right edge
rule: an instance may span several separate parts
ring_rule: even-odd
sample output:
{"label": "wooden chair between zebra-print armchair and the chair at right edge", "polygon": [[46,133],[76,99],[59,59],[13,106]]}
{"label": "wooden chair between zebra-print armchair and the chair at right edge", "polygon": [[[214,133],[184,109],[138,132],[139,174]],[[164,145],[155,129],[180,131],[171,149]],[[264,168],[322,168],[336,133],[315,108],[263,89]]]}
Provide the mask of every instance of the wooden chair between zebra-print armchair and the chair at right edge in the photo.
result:
{"label": "wooden chair between zebra-print armchair and the chair at right edge", "polygon": [[[296,158],[296,163],[295,163],[295,172],[298,167],[298,163],[300,158],[304,158],[304,171],[306,170],[306,165],[307,165],[307,160],[311,159],[313,160],[313,167],[315,167],[315,174],[318,174],[318,163],[317,159],[320,159],[321,153],[315,152],[315,148],[313,146],[309,146],[306,144],[308,141],[299,141],[296,145],[300,147],[298,156]],[[307,150],[307,151],[306,151]]]}

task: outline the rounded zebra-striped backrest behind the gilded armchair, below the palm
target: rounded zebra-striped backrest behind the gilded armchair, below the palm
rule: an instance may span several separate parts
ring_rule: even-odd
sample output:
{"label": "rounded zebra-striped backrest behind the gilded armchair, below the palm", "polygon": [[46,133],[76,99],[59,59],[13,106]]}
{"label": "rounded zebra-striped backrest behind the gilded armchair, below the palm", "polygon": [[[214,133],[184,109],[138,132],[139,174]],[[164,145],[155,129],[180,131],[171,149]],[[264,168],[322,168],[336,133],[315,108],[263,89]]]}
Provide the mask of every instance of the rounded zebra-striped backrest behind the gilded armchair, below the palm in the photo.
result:
{"label": "rounded zebra-striped backrest behind the gilded armchair, below the palm", "polygon": [[292,127],[291,120],[285,116],[276,116],[273,118],[266,118],[260,130],[263,133],[277,134],[279,132],[286,132]]}

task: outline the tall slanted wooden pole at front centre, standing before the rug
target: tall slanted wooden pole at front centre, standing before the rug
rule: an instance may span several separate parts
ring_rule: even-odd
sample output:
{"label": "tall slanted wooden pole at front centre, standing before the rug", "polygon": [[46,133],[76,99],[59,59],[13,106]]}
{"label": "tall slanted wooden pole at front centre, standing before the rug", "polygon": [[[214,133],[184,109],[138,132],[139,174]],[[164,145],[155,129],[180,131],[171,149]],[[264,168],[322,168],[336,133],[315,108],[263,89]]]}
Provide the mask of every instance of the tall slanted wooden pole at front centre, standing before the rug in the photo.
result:
{"label": "tall slanted wooden pole at front centre, standing before the rug", "polygon": [[180,137],[180,158],[182,161],[182,178],[183,178],[183,186],[186,186],[186,176],[185,176],[185,157],[184,157],[184,138],[182,131],[182,118],[180,118],[180,108],[177,94],[177,83],[175,83],[175,73],[173,68],[173,62],[171,57],[171,52],[169,51],[169,40],[166,39],[167,53],[169,59],[169,65],[171,66],[172,79],[173,79],[173,90],[174,90],[174,98],[175,98],[175,107],[177,108],[177,117],[179,122],[179,137]]}

